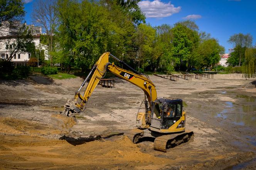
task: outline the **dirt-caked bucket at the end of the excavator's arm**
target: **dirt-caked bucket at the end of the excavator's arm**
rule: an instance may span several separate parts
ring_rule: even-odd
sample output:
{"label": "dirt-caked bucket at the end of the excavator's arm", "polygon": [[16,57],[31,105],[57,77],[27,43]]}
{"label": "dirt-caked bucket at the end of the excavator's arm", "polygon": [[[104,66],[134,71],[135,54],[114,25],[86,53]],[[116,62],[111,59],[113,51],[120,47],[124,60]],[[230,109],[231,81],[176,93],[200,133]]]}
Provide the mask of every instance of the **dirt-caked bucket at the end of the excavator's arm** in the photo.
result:
{"label": "dirt-caked bucket at the end of the excavator's arm", "polygon": [[50,117],[52,127],[69,133],[71,128],[77,124],[76,118],[64,114],[52,114]]}

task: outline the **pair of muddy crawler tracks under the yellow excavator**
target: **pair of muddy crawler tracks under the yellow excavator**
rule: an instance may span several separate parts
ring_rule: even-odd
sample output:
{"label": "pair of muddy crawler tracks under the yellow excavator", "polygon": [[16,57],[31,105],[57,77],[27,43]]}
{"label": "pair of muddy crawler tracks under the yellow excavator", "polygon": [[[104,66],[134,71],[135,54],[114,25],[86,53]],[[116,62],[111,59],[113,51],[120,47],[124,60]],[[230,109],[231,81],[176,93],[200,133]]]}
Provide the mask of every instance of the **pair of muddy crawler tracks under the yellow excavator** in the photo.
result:
{"label": "pair of muddy crawler tracks under the yellow excavator", "polygon": [[133,129],[124,133],[124,136],[127,136],[133,143],[138,143],[143,138],[150,137],[154,138],[154,150],[167,152],[167,149],[178,146],[182,143],[193,141],[194,132],[185,131],[183,133],[172,133],[166,134],[156,133],[148,129]]}

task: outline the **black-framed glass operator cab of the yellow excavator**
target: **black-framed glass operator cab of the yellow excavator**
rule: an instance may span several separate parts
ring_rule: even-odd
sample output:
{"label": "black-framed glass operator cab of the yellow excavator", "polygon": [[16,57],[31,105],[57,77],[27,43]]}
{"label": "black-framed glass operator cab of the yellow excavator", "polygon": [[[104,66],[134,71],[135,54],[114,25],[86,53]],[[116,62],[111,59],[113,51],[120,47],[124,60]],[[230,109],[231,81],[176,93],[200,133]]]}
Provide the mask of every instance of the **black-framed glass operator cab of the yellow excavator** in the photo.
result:
{"label": "black-framed glass operator cab of the yellow excavator", "polygon": [[182,112],[182,99],[157,98],[150,129],[162,133],[185,130],[185,112]]}

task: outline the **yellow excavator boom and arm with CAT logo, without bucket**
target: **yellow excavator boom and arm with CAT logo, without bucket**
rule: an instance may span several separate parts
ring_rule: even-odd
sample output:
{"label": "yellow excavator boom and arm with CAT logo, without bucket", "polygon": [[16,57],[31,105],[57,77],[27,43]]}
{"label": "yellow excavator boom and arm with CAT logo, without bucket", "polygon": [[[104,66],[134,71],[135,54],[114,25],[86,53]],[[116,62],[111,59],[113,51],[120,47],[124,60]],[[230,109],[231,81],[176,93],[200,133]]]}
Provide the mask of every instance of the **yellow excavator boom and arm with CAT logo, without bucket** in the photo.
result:
{"label": "yellow excavator boom and arm with CAT logo, without bucket", "polygon": [[[73,113],[79,113],[85,108],[85,105],[89,97],[93,93],[100,79],[104,77],[107,70],[115,74],[117,77],[120,77],[121,79],[124,79],[142,89],[145,95],[147,96],[148,102],[150,104],[150,110],[152,109],[152,103],[155,99],[157,99],[157,91],[155,89],[155,85],[153,84],[153,82],[150,81],[147,77],[122,69],[116,66],[114,63],[109,63],[109,56],[113,55],[109,52],[105,52],[101,55],[101,57],[99,57],[99,60],[94,64],[93,68],[91,69],[91,72],[86,77],[79,90],[76,92],[74,100],[72,102],[69,101],[68,103],[66,103],[66,109],[64,112],[67,116]],[[113,57],[120,62],[120,60],[117,59],[115,56]],[[121,63],[123,62],[121,61]],[[127,67],[128,65],[126,64],[125,66]],[[130,66],[128,67],[131,68]],[[134,69],[132,70],[135,71]],[[91,76],[92,73],[93,75]],[[80,91],[90,76],[91,79],[84,91],[84,94],[82,95]],[[78,102],[78,99],[80,99],[81,101]]]}

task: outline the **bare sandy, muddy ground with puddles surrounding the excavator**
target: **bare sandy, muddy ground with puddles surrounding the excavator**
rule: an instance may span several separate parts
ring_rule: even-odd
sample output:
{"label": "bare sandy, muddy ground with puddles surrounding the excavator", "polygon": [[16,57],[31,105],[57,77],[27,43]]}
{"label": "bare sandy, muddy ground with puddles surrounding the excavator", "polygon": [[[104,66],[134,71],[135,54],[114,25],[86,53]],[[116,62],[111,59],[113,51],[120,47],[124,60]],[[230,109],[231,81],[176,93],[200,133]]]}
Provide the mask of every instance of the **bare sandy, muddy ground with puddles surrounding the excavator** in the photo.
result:
{"label": "bare sandy, muddy ground with puddles surrounding the excavator", "polygon": [[150,141],[133,144],[122,136],[135,128],[144,94],[118,78],[115,88],[96,87],[70,133],[52,128],[50,117],[63,110],[83,79],[49,85],[0,81],[0,169],[256,169],[253,79],[241,74],[178,82],[150,79],[158,97],[184,100],[193,142],[162,153]]}

